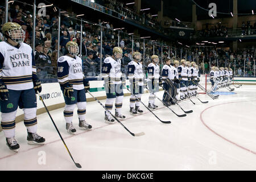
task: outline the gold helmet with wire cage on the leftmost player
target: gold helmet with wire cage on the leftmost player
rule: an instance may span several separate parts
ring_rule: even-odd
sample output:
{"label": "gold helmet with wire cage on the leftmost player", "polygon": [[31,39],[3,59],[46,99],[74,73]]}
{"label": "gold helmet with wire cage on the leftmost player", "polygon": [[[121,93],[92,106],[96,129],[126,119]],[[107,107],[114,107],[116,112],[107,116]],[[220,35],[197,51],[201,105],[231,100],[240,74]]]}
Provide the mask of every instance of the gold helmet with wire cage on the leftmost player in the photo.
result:
{"label": "gold helmet with wire cage on the leftmost player", "polygon": [[[8,32],[9,35],[6,34]],[[7,22],[2,26],[2,33],[8,39],[13,40],[16,43],[23,43],[25,39],[25,32],[18,23]]]}

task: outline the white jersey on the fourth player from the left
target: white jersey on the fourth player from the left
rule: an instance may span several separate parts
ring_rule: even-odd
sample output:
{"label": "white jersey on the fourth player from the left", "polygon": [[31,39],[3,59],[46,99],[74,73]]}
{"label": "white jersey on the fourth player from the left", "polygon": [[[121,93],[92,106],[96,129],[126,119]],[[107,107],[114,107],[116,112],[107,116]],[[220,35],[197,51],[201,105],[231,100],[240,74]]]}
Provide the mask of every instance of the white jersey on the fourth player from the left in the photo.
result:
{"label": "white jersey on the fourth player from the left", "polygon": [[138,84],[140,86],[143,86],[143,69],[142,69],[142,64],[141,63],[136,63],[135,61],[130,61],[128,63],[128,72],[127,72],[127,77],[129,79],[135,78],[136,81],[138,81]]}

